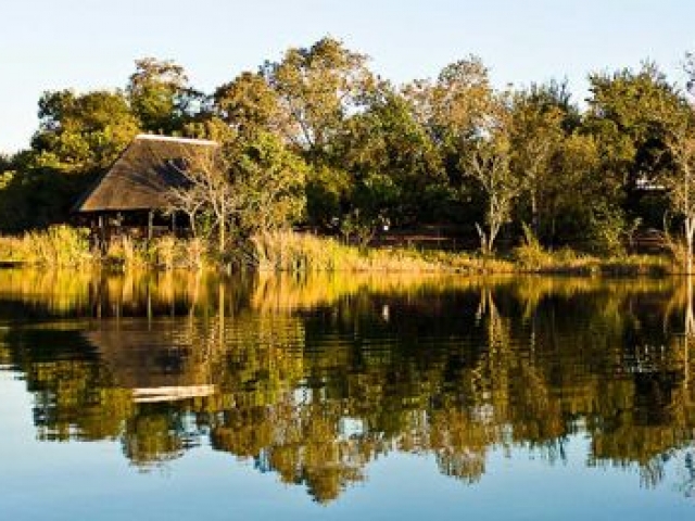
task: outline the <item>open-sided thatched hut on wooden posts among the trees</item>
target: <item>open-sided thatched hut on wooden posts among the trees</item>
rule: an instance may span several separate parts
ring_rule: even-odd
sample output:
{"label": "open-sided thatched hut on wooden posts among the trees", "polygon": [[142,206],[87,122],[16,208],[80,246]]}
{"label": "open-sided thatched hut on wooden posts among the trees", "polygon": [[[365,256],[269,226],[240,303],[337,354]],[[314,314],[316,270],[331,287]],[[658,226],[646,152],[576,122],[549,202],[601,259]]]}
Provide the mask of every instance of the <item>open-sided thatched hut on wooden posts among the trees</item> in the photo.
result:
{"label": "open-sided thatched hut on wooden posts among the trees", "polygon": [[216,143],[138,135],[74,209],[90,220],[105,242],[123,232],[143,236],[146,229],[147,237],[151,238],[156,225],[159,230],[168,227],[176,231],[175,216],[162,226],[162,214],[169,207],[170,189],[185,185],[186,165],[208,153],[211,147]]}

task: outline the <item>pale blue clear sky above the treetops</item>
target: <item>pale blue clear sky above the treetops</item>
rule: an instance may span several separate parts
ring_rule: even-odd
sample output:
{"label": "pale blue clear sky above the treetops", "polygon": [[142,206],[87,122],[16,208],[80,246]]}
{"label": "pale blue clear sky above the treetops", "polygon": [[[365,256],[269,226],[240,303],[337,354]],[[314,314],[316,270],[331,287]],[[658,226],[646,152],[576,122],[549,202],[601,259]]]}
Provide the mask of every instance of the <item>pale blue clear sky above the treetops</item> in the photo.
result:
{"label": "pale blue clear sky above the treetops", "polygon": [[143,56],[206,92],[330,35],[402,84],[470,54],[497,87],[653,60],[673,82],[695,51],[695,0],[2,0],[0,153],[29,144],[46,90],[125,87]]}

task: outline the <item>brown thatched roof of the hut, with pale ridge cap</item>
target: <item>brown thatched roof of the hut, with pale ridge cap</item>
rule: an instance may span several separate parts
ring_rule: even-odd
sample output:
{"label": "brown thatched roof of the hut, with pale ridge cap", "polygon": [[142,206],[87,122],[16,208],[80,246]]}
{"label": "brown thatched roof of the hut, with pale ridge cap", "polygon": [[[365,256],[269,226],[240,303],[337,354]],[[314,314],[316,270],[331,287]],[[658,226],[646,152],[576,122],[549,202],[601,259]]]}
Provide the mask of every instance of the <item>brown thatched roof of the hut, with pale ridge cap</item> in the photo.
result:
{"label": "brown thatched roof of the hut, with pale ridge cap", "polygon": [[118,212],[167,207],[167,192],[180,187],[186,163],[214,141],[139,135],[75,205],[76,212]]}

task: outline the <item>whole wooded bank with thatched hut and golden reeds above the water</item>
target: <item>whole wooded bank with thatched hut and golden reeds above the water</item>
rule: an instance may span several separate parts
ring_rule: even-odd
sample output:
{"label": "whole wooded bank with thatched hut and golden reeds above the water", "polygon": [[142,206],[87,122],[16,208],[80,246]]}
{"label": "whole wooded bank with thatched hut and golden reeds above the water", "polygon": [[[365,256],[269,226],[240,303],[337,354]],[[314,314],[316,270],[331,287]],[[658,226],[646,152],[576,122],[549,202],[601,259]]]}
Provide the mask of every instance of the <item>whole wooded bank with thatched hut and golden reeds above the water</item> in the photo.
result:
{"label": "whole wooded bank with thatched hut and golden reeds above the water", "polygon": [[213,92],[142,59],[123,88],[38,100],[0,156],[0,264],[692,272],[683,71],[591,73],[580,105],[561,81],[495,89],[476,56],[396,86],[332,38]]}

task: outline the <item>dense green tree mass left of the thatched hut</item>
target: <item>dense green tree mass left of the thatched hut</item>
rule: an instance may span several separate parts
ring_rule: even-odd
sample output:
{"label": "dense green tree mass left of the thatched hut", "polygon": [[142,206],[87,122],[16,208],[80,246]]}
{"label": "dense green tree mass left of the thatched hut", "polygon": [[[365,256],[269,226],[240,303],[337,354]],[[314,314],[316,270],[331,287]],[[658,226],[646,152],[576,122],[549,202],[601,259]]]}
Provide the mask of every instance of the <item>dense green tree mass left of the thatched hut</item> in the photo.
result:
{"label": "dense green tree mass left of the thatched hut", "polygon": [[119,91],[43,93],[31,148],[2,174],[0,229],[17,232],[66,220],[79,194],[138,130]]}

